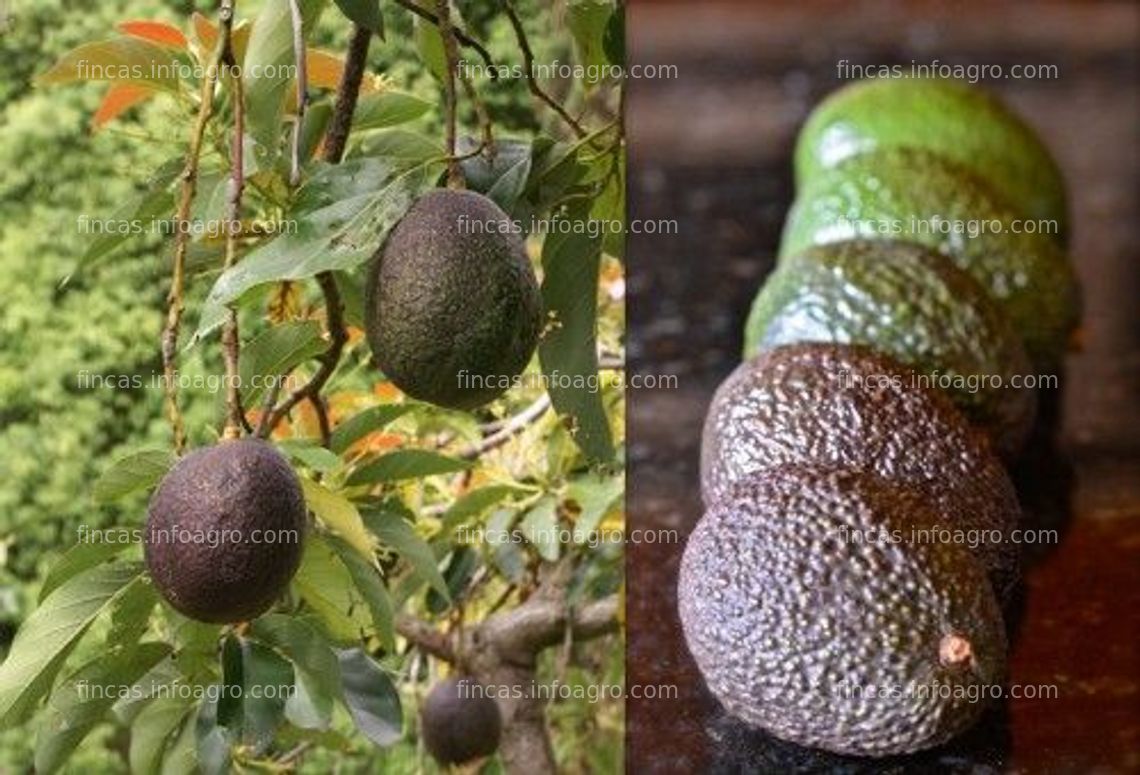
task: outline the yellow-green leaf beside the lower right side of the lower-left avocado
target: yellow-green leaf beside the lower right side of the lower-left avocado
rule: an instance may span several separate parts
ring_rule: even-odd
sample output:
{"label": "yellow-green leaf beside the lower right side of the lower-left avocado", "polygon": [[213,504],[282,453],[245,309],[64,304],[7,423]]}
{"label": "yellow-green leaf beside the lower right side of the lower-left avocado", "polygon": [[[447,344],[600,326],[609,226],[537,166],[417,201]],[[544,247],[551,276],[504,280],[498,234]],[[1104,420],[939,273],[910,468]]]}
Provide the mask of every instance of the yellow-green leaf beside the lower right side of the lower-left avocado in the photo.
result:
{"label": "yellow-green leaf beside the lower right side of the lower-left avocado", "polygon": [[306,539],[293,586],[333,641],[351,643],[368,630],[369,614],[357,604],[352,577],[319,535],[310,533]]}

